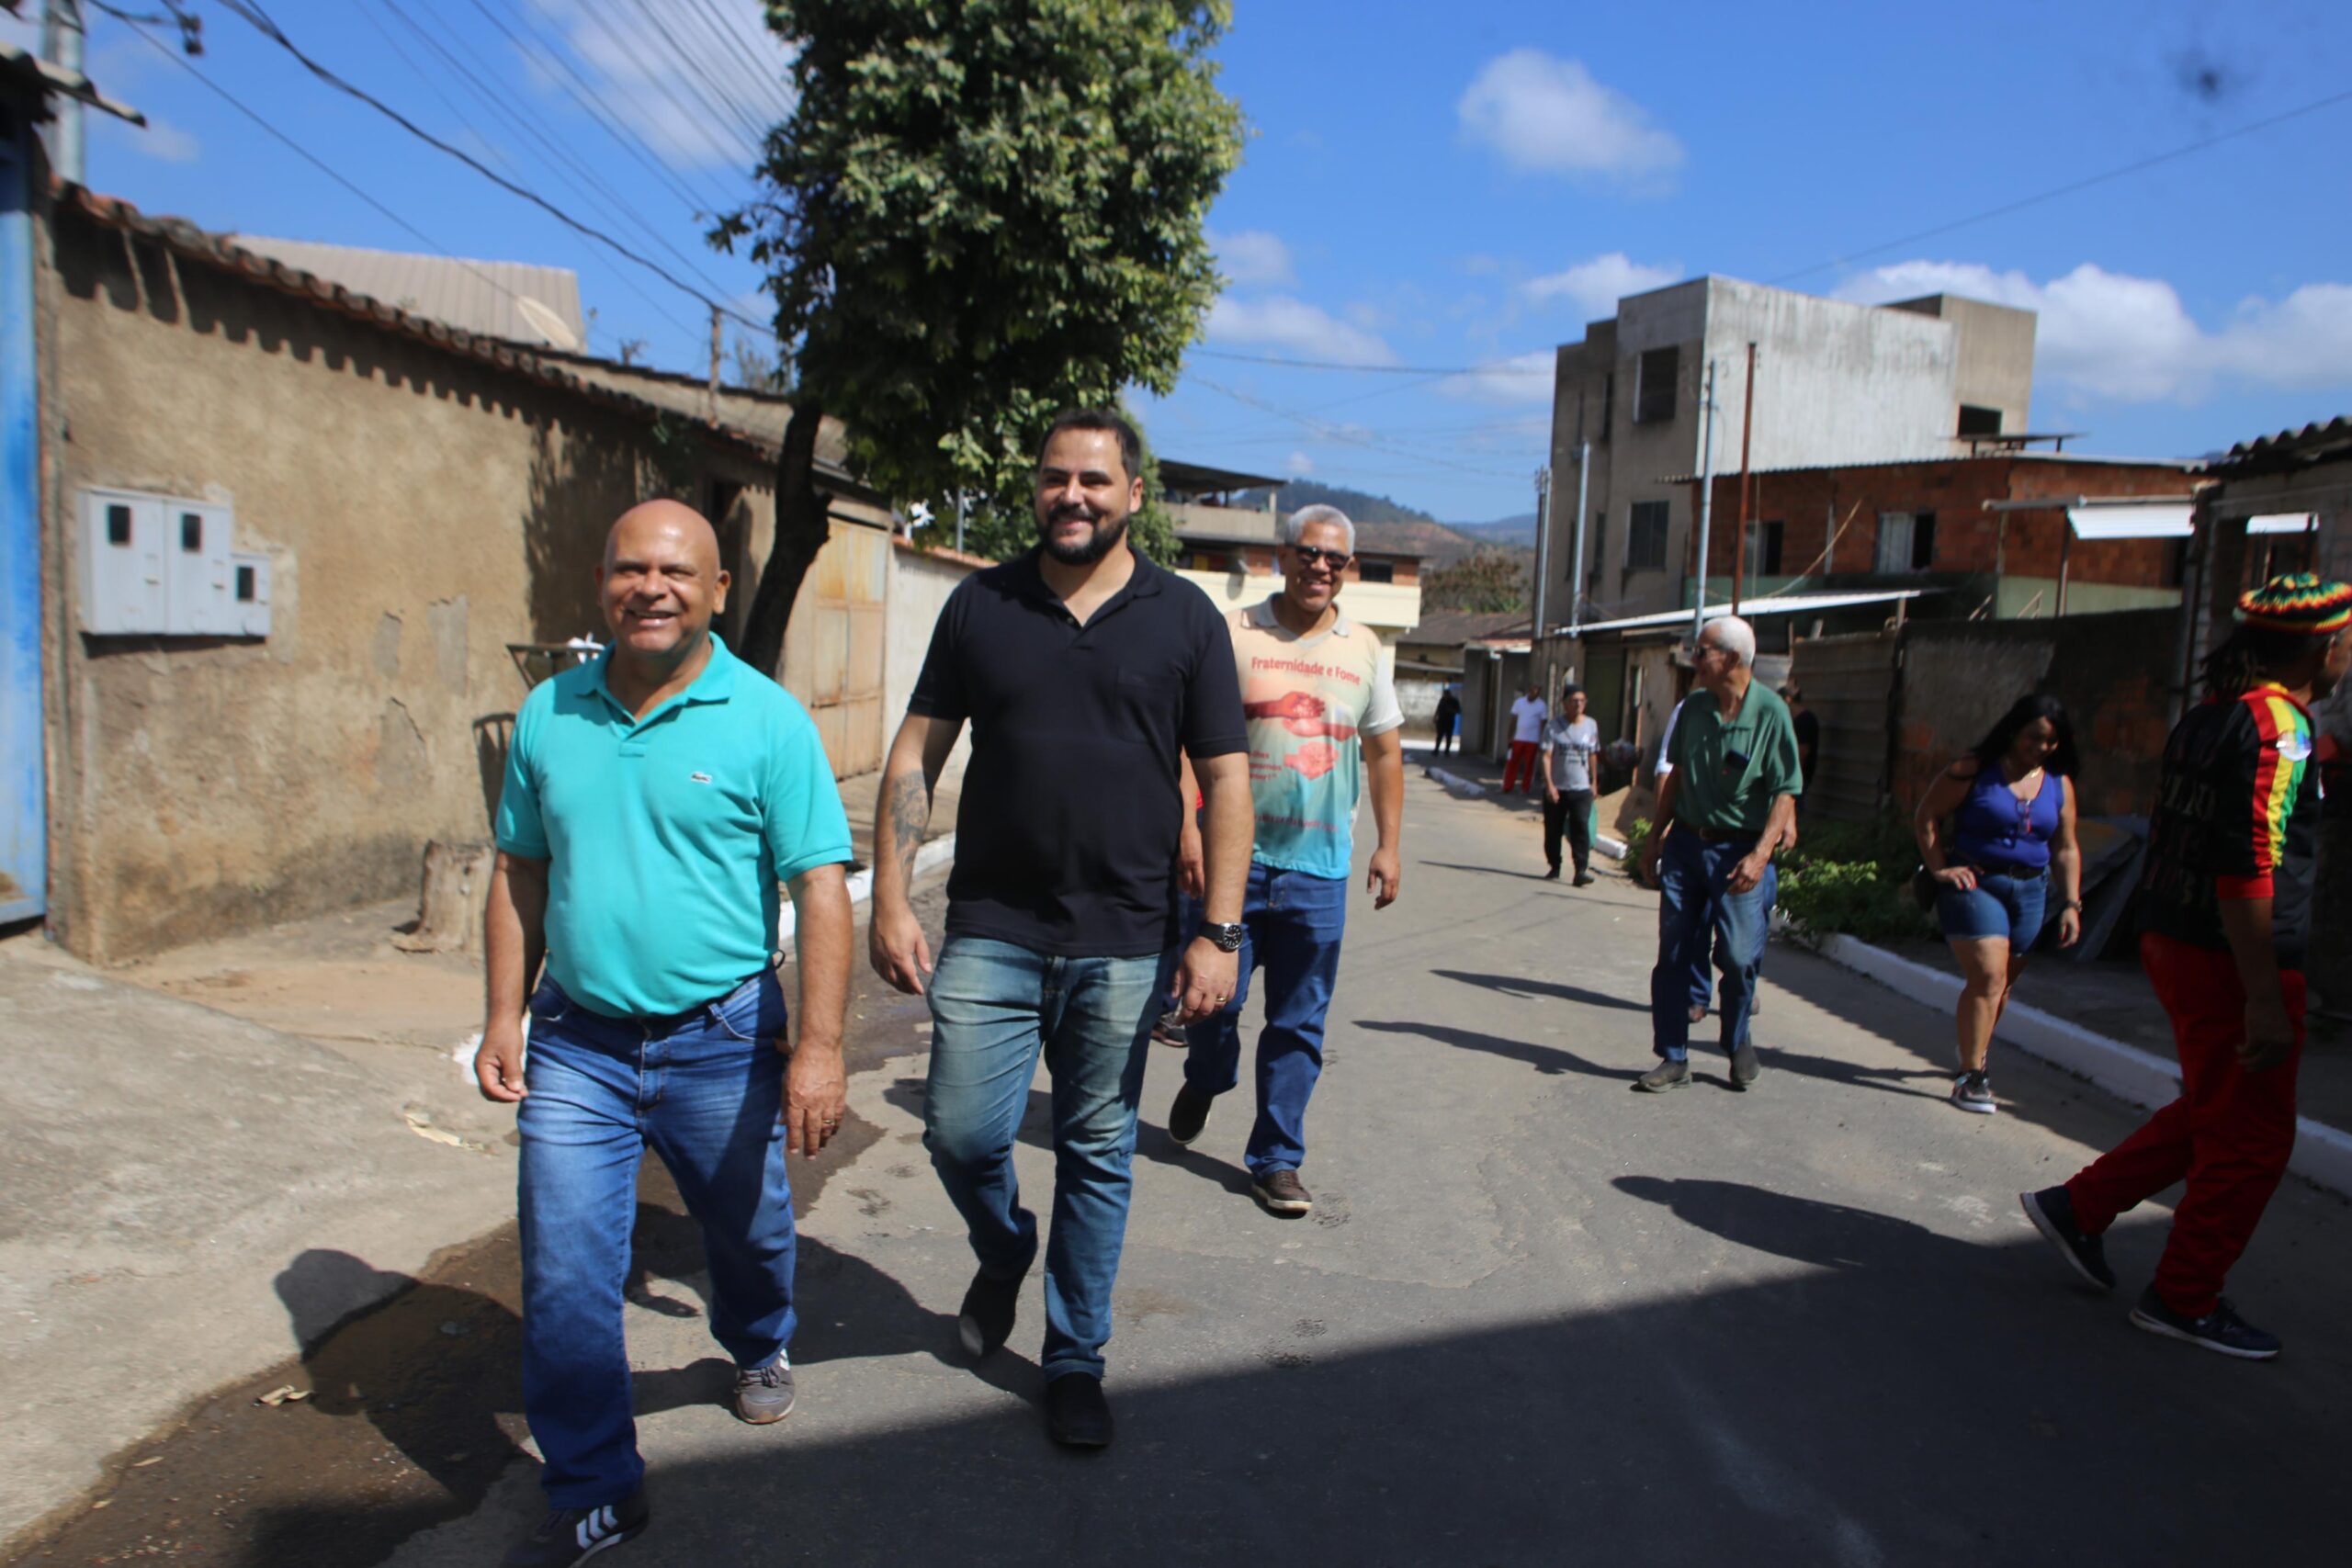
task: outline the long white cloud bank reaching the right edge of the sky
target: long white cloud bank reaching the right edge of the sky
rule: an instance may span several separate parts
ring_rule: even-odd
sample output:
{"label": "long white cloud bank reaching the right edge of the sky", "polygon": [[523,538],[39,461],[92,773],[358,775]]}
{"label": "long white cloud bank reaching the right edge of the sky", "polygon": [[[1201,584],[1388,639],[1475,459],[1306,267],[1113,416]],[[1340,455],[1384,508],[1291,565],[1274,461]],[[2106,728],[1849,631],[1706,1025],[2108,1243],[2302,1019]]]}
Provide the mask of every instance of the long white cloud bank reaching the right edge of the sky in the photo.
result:
{"label": "long white cloud bank reaching the right edge of the sky", "polygon": [[2352,287],[2310,282],[2281,301],[2246,299],[2216,329],[2201,327],[2161,277],[2082,263],[2034,282],[1973,261],[1898,261],[1839,287],[1865,303],[1966,294],[2039,313],[2034,369],[2105,402],[2199,402],[2216,383],[2260,388],[2352,386]]}

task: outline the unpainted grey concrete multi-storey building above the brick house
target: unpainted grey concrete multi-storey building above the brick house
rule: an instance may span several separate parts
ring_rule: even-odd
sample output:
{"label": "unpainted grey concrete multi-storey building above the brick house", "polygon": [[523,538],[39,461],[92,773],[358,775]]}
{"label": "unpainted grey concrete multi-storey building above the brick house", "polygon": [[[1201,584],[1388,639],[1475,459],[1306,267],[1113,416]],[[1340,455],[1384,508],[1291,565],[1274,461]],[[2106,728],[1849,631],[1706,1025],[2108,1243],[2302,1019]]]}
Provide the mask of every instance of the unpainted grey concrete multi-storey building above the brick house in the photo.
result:
{"label": "unpainted grey concrete multi-storey building above the brick house", "polygon": [[1708,364],[1712,468],[1738,470],[1750,343],[1752,468],[1940,458],[1969,451],[1969,440],[2025,433],[2030,310],[1943,294],[1853,306],[1731,277],[1632,294],[1557,353],[1548,621],[1571,618],[1571,581],[1602,618],[1689,602],[1696,508],[1686,475],[1708,468]]}

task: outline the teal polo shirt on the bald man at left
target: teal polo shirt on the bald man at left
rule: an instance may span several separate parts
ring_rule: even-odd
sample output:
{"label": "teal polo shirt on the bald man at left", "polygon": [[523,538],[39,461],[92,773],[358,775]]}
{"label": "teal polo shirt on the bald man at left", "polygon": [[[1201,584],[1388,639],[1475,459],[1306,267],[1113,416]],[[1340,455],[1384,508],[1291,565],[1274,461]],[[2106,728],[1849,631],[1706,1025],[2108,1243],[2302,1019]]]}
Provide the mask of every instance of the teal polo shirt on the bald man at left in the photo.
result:
{"label": "teal polo shirt on the bald man at left", "polygon": [[710,639],[637,719],[595,663],[515,715],[499,849],[548,863],[548,973],[597,1013],[684,1013],[776,961],[779,882],[849,860],[816,722]]}

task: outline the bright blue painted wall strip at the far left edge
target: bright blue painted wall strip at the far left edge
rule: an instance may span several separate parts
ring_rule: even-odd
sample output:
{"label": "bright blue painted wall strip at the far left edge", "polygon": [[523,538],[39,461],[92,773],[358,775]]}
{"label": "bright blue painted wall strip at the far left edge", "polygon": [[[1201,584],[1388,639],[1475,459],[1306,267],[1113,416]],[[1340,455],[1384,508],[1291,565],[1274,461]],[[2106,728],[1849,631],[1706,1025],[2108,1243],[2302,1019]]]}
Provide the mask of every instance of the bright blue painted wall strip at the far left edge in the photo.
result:
{"label": "bright blue painted wall strip at the far left edge", "polygon": [[26,103],[0,99],[0,922],[49,903],[31,136]]}

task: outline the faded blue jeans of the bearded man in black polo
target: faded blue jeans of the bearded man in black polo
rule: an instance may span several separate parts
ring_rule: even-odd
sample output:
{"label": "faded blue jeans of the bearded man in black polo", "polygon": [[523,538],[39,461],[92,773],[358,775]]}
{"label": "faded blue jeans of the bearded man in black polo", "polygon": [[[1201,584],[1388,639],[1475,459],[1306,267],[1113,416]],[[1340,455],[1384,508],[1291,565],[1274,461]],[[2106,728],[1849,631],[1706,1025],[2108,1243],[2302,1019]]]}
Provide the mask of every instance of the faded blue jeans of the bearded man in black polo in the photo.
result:
{"label": "faded blue jeans of the bearded man in black polo", "polygon": [[931,971],[931,1077],[922,1143],[971,1232],[981,1274],[1021,1279],[1037,1215],[1021,1206],[1014,1140],[1044,1056],[1054,1079],[1054,1229],[1044,1248],[1044,1375],[1103,1373],[1110,1286],[1127,1241],[1136,1105],[1171,954],[1063,959],[950,936]]}

